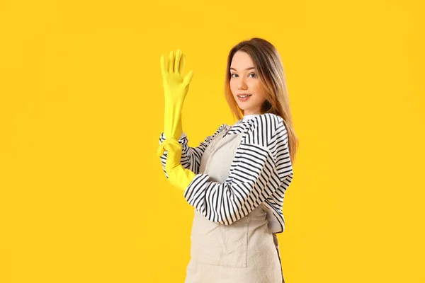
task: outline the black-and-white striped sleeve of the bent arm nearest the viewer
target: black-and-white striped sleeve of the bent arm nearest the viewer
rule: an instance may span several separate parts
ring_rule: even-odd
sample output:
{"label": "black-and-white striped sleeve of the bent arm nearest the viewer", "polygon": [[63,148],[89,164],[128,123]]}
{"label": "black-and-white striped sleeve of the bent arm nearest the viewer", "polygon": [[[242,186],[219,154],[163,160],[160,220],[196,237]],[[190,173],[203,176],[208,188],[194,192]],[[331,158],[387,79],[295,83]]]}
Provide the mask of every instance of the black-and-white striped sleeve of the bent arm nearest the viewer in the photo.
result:
{"label": "black-and-white striped sleeve of the bent arm nearest the viewer", "polygon": [[[208,220],[229,225],[254,210],[292,179],[288,134],[283,120],[255,127],[239,145],[225,183],[197,174],[184,197]],[[264,131],[262,129],[271,129]],[[255,142],[257,141],[257,142]],[[262,141],[262,142],[258,142]]]}

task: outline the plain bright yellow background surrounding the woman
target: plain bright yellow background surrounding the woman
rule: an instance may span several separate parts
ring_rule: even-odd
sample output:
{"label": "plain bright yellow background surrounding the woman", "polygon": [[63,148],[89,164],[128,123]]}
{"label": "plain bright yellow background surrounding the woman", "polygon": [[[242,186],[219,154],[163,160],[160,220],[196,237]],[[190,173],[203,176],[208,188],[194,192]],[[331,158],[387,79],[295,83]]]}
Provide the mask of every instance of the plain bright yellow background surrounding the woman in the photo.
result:
{"label": "plain bright yellow background surrounding the woman", "polygon": [[194,71],[197,146],[234,122],[227,52],[250,37],[280,52],[300,139],[286,282],[425,282],[423,36],[419,0],[2,1],[0,282],[183,282],[159,58]]}

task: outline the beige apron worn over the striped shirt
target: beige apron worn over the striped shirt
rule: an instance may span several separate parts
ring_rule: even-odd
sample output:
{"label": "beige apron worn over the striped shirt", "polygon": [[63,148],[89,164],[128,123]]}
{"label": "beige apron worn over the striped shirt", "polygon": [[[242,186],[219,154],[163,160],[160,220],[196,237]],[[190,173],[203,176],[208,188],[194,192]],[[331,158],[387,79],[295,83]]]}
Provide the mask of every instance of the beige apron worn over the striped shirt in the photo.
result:
{"label": "beige apron worn over the striped shirt", "polygon": [[[226,135],[229,128],[210,141],[201,158],[199,173],[211,181],[225,182],[242,139],[243,132]],[[267,223],[263,204],[231,225],[209,221],[194,209],[185,283],[284,283],[278,238]]]}

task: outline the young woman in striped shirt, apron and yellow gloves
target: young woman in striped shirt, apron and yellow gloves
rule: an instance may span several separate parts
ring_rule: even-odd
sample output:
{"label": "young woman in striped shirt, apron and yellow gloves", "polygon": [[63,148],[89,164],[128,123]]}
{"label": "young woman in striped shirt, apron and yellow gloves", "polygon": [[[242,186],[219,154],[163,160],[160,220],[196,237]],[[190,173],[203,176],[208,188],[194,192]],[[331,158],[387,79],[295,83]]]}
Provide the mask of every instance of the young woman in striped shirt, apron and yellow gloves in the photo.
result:
{"label": "young woman in striped shirt, apron and yellow gloves", "polygon": [[276,233],[285,229],[297,137],[278,51],[261,38],[230,50],[225,96],[239,120],[197,147],[181,129],[193,76],[181,76],[184,62],[180,50],[167,66],[161,58],[166,107],[157,154],[166,178],[194,207],[185,282],[285,282]]}

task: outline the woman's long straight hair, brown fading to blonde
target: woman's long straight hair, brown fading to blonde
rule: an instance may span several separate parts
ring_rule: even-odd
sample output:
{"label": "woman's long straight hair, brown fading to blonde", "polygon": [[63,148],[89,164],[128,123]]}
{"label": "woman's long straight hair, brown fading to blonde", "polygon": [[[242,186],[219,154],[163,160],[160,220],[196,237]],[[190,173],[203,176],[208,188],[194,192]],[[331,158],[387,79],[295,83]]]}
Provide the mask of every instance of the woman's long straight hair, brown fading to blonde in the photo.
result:
{"label": "woman's long straight hair, brown fading to blonde", "polygon": [[261,114],[273,113],[283,118],[288,132],[290,160],[294,163],[298,138],[293,129],[285,72],[278,50],[267,40],[258,37],[239,42],[230,50],[227,57],[225,97],[232,114],[239,120],[242,119],[243,110],[237,105],[230,90],[230,64],[232,64],[233,56],[237,51],[246,52],[254,62],[254,67],[261,81],[262,91],[266,97],[266,101],[261,105]]}

